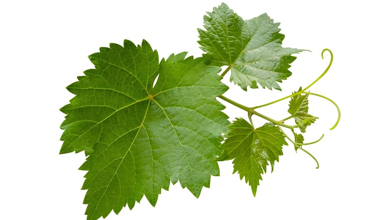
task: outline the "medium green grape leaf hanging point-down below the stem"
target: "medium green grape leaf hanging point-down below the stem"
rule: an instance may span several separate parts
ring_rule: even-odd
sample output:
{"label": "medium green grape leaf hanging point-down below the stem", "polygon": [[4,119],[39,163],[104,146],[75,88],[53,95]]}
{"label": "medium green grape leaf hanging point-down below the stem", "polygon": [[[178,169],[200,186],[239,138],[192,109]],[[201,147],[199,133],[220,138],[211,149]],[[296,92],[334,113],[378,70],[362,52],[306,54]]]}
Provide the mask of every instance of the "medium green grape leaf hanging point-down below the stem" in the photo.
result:
{"label": "medium green grape leaf hanging point-down below the stem", "polygon": [[274,162],[279,162],[279,155],[283,155],[282,146],[287,145],[284,135],[272,123],[266,123],[254,129],[244,119],[236,119],[228,126],[229,132],[222,144],[222,154],[218,161],[233,160],[234,171],[238,171],[240,179],[245,176],[245,182],[252,188],[256,196],[261,174],[266,173],[268,162],[273,171]]}

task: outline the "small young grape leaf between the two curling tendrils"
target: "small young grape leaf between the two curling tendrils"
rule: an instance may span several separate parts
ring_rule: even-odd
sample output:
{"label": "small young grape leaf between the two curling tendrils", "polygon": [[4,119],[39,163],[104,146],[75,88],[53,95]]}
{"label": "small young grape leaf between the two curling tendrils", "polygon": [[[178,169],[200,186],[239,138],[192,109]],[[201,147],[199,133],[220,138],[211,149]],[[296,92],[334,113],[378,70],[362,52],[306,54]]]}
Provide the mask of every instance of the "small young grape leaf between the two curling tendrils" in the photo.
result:
{"label": "small young grape leaf between the two curling tendrils", "polygon": [[[300,87],[299,91],[301,90],[302,87]],[[287,110],[287,112],[295,119],[296,124],[300,126],[300,130],[303,133],[306,132],[306,128],[308,126],[315,123],[316,119],[319,119],[318,117],[314,117],[308,114],[308,96],[309,94],[299,94],[292,96],[288,104],[289,108]]]}

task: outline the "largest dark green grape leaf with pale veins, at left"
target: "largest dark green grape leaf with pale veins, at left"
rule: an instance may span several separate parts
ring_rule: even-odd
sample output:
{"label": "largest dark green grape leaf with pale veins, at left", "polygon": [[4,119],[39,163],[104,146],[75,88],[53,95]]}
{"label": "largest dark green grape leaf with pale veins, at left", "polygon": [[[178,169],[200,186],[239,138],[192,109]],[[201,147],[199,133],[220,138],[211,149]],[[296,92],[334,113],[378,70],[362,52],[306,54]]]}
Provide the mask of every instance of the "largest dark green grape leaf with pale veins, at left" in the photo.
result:
{"label": "largest dark green grape leaf with pale veins, at left", "polygon": [[61,108],[60,153],[88,155],[80,167],[87,219],[132,209],[143,195],[155,205],[170,181],[198,197],[219,175],[214,159],[229,122],[216,96],[228,87],[219,67],[185,55],[159,63],[146,41],[125,40],[90,55],[95,69],[67,87],[76,96]]}

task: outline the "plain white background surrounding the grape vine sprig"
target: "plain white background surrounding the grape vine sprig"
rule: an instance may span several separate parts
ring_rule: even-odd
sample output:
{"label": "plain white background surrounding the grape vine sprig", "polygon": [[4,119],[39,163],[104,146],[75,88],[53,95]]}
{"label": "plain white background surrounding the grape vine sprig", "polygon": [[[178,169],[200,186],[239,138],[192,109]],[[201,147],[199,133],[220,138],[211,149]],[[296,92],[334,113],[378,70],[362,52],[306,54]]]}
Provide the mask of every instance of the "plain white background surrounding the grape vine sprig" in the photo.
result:
{"label": "plain white background surrounding the grape vine sprig", "polygon": [[[347,1],[348,2],[348,1]],[[250,106],[282,97],[316,79],[334,52],[330,71],[312,92],[340,106],[310,98],[310,113],[321,119],[306,133],[324,139],[297,154],[285,146],[272,174],[263,176],[256,198],[220,163],[199,199],[179,184],[162,191],[156,207],[143,198],[130,211],[107,219],[392,219],[390,173],[391,35],[390,7],[382,1],[230,1],[243,19],[267,13],[280,22],[284,47],[309,49],[298,55],[293,75],[277,90],[242,92],[229,84],[227,96]],[[160,58],[188,51],[201,56],[197,28],[220,1],[9,1],[0,4],[0,218],[85,219],[83,153],[59,155],[58,109],[72,98],[65,86],[93,68],[87,55],[109,43],[146,39]],[[272,109],[272,110],[271,110]],[[260,112],[280,119],[287,101]],[[246,117],[228,107],[231,119]],[[262,120],[255,120],[262,125]],[[389,210],[388,210],[389,209]]]}

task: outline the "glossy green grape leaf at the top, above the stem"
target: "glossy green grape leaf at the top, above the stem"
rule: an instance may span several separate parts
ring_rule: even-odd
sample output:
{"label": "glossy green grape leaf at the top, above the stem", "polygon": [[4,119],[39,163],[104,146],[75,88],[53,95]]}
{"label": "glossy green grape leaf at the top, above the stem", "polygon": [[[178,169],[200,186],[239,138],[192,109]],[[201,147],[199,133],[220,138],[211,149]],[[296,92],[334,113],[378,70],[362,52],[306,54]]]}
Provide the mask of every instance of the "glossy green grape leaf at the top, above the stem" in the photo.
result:
{"label": "glossy green grape leaf at the top, above the stem", "polygon": [[198,42],[209,65],[231,67],[230,81],[245,91],[257,83],[281,90],[277,82],[291,75],[288,68],[296,59],[291,54],[304,50],[281,47],[279,23],[267,14],[244,21],[224,3],[207,14]]}

